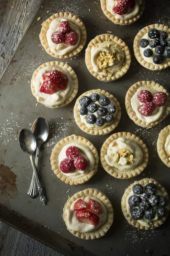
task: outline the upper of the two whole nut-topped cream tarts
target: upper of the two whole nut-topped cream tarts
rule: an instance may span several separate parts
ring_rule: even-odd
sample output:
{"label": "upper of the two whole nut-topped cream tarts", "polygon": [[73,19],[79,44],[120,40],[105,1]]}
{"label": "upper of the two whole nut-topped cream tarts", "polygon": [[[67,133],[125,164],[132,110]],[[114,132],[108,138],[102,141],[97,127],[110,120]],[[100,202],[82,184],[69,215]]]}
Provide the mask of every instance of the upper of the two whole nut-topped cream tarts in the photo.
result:
{"label": "upper of the two whole nut-topped cream tarts", "polygon": [[130,67],[130,50],[115,35],[97,35],[85,50],[85,64],[98,80],[109,82],[125,75]]}

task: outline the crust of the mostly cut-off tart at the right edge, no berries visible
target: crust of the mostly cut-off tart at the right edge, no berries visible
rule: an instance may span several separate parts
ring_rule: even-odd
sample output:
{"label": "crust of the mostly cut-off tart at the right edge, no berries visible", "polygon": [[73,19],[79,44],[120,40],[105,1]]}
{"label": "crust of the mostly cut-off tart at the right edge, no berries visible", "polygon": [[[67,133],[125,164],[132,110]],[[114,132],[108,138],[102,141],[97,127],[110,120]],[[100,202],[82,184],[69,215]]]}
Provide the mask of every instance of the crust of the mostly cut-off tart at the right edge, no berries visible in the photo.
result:
{"label": "crust of the mostly cut-off tart at the right edge, no berries visible", "polygon": [[161,130],[158,141],[157,141],[157,151],[159,154],[159,157],[161,158],[162,162],[170,167],[170,160],[167,157],[167,153],[164,150],[164,144],[167,136],[170,134],[170,125],[165,127],[163,130]]}

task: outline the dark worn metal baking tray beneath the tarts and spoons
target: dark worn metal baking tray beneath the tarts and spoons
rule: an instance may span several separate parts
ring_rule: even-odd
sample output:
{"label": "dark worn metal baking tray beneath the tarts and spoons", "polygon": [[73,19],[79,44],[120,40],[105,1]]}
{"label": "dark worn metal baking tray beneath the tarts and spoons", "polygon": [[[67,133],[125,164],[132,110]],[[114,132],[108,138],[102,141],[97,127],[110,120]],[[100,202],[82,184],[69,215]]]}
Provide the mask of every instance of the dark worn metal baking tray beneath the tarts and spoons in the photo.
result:
{"label": "dark worn metal baking tray beneath the tarts and spoons", "polygon": [[[74,69],[79,80],[78,95],[95,88],[112,93],[122,107],[122,117],[113,132],[130,131],[146,143],[149,150],[149,164],[139,176],[130,180],[118,180],[102,169],[87,183],[70,186],[59,180],[51,171],[50,155],[54,145],[62,138],[76,134],[89,139],[98,152],[102,143],[110,136],[90,136],[82,132],[74,122],[74,103],[59,109],[46,108],[38,104],[30,90],[31,76],[42,63],[57,59],[48,55],[40,45],[41,23],[56,12],[72,12],[83,20],[87,29],[87,43],[82,52],[65,59]],[[163,16],[162,16],[163,13]],[[155,230],[138,230],[130,226],[121,210],[122,195],[135,180],[152,177],[167,189],[170,195],[170,170],[158,157],[156,141],[162,128],[170,124],[167,117],[151,129],[141,128],[129,119],[125,110],[127,89],[137,81],[153,80],[162,84],[170,93],[169,69],[150,71],[142,67],[133,55],[133,39],[139,29],[152,23],[169,24],[170,7],[168,1],[146,1],[142,17],[130,26],[118,26],[103,14],[100,1],[95,0],[46,0],[23,37],[11,63],[0,81],[0,219],[23,231],[29,236],[47,244],[65,255],[170,255],[170,218]],[[37,20],[41,17],[40,20]],[[85,48],[96,35],[111,32],[130,48],[132,63],[129,71],[121,79],[109,83],[98,81],[85,66]],[[32,177],[29,157],[18,144],[18,132],[31,128],[37,117],[45,117],[50,127],[48,141],[40,151],[40,177],[45,185],[47,206],[40,198],[31,199],[27,195]],[[84,241],[73,236],[62,219],[62,209],[68,196],[85,188],[96,188],[111,200],[114,221],[111,229],[100,239]]]}

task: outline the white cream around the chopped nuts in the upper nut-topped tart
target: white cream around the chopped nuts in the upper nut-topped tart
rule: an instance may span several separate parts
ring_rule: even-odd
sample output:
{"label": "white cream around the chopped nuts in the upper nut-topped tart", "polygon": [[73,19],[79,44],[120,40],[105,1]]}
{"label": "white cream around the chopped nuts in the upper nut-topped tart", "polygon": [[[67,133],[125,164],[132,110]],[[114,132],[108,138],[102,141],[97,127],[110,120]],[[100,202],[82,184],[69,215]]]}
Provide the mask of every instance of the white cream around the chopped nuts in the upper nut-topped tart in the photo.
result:
{"label": "white cream around the chopped nuts in the upper nut-topped tart", "polygon": [[[108,45],[109,45],[109,47],[107,47]],[[114,50],[116,51],[116,53],[119,54],[120,61],[118,61],[116,58],[115,61],[113,61],[112,63],[109,64],[109,67],[107,67],[105,69],[103,68],[103,70],[106,70],[106,73],[105,73],[102,71],[102,69],[100,69],[98,67],[97,55],[103,51],[111,53],[111,51],[114,51]],[[113,42],[104,41],[102,43],[95,44],[91,48],[91,64],[93,66],[93,70],[94,70],[94,72],[96,72],[102,76],[108,76],[108,73],[115,73],[119,69],[121,69],[123,60],[124,60],[124,52],[119,47],[116,47],[115,44],[113,44]]]}

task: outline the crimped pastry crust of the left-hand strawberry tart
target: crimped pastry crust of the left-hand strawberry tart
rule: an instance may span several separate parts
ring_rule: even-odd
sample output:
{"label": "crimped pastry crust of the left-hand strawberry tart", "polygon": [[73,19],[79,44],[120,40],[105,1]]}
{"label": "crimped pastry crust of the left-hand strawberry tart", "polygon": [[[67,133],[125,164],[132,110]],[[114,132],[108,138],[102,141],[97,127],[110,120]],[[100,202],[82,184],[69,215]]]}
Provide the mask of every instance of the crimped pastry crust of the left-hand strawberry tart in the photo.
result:
{"label": "crimped pastry crust of the left-hand strawberry tart", "polygon": [[40,102],[40,103],[42,103],[43,105],[45,105],[45,107],[48,107],[48,108],[61,108],[61,107],[64,107],[64,106],[68,105],[70,102],[72,102],[72,100],[77,95],[78,88],[79,88],[79,83],[78,83],[78,79],[77,79],[76,73],[74,72],[72,67],[68,66],[68,64],[66,64],[64,62],[51,61],[51,62],[46,62],[46,63],[42,64],[40,67],[38,67],[37,70],[35,70],[35,72],[34,72],[34,74],[32,76],[32,79],[31,79],[31,92],[34,95],[34,97],[36,97],[35,96],[35,88],[34,88],[34,85],[33,85],[33,80],[37,76],[37,73],[38,73],[39,70],[41,70],[43,67],[48,67],[48,66],[56,66],[56,67],[59,67],[60,69],[66,70],[70,74],[70,76],[72,77],[72,79],[74,81],[74,88],[73,88],[73,91],[72,91],[71,95],[67,99],[65,99],[65,101],[62,104],[60,104],[60,105],[56,105],[56,106],[45,105],[43,103],[43,99],[42,99],[42,102]]}

